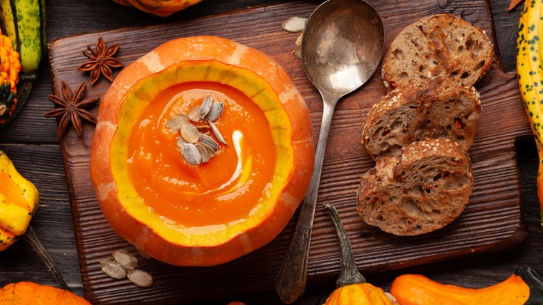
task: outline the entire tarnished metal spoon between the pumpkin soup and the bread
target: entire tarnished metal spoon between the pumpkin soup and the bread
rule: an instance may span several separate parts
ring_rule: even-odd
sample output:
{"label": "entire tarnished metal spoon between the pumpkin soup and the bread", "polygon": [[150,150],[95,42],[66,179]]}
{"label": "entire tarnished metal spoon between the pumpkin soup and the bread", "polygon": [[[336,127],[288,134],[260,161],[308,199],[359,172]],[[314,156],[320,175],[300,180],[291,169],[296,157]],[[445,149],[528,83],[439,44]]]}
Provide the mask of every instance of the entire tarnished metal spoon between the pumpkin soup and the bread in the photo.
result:
{"label": "entire tarnished metal spoon between the pumpkin soup and the bread", "polygon": [[294,302],[306,287],[311,229],[333,111],[343,95],[370,79],[383,50],[383,22],[365,1],[326,1],[315,9],[306,24],[301,42],[302,65],[320,91],[324,109],[315,170],[275,283],[276,292],[286,304]]}

